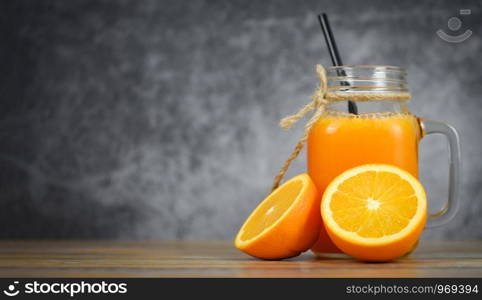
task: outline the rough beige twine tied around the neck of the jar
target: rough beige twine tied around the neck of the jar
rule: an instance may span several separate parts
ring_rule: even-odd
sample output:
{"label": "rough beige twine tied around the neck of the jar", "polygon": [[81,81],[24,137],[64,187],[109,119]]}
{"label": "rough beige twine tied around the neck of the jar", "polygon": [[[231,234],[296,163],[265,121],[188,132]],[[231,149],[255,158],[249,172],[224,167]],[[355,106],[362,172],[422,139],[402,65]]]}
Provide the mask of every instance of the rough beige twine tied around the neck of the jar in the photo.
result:
{"label": "rough beige twine tied around the neck of the jar", "polygon": [[[332,101],[380,101],[380,100],[396,100],[396,101],[406,101],[411,99],[411,95],[406,89],[397,89],[390,91],[379,91],[379,92],[340,92],[340,91],[330,91],[328,92],[328,82],[326,76],[326,70],[321,65],[316,65],[316,73],[320,78],[320,86],[315,90],[311,101],[301,108],[298,112],[293,115],[287,116],[281,119],[279,126],[284,130],[290,129],[296,122],[302,119],[307,113],[313,111],[311,118],[306,122],[303,136],[299,139],[296,147],[291,152],[290,156],[286,159],[283,166],[279,170],[278,174],[273,180],[273,185],[271,191],[274,191],[279,185],[286,172],[288,171],[291,162],[298,157],[301,150],[308,140],[311,129],[315,123],[323,116],[325,112],[326,105]],[[388,89],[394,87],[386,87]]]}

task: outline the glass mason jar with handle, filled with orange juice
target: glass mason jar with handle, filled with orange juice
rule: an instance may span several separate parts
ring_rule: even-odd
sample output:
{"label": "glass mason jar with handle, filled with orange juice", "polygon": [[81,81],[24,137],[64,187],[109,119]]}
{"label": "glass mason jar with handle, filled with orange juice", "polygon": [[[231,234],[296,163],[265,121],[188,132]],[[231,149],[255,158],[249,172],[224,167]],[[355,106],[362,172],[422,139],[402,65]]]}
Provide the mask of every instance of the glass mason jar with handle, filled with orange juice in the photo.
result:
{"label": "glass mason jar with handle, filled with orange juice", "polygon": [[[419,141],[429,134],[443,134],[450,146],[449,197],[441,211],[428,216],[427,227],[449,221],[458,207],[461,158],[457,131],[444,122],[410,113],[407,73],[402,68],[329,67],[326,76],[330,102],[313,126],[307,145],[308,174],[320,193],[337,175],[363,164],[395,165],[418,178]],[[312,251],[340,252],[324,228]]]}

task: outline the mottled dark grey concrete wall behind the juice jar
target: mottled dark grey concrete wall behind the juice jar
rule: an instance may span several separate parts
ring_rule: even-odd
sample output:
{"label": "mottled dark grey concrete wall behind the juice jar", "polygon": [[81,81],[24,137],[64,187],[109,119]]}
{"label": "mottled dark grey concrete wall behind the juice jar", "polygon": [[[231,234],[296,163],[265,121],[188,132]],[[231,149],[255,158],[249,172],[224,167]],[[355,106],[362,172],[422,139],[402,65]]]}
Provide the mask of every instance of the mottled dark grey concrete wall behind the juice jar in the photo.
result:
{"label": "mottled dark grey concrete wall behind the juice jar", "polygon": [[[3,0],[0,238],[231,239],[301,134],[278,120],[330,63],[321,10],[345,63],[408,68],[412,110],[461,134],[460,213],[425,238],[481,239],[481,5],[419,0]],[[451,16],[469,40],[435,35]],[[432,210],[447,169],[424,140]]]}

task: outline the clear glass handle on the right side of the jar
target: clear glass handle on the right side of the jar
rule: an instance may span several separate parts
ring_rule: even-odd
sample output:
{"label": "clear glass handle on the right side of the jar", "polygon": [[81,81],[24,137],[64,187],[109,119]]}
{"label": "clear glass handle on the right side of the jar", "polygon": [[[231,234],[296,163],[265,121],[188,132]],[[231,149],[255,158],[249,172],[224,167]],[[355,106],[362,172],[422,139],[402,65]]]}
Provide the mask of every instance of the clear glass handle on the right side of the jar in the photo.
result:
{"label": "clear glass handle on the right side of the jar", "polygon": [[460,139],[455,128],[447,123],[433,120],[420,120],[422,137],[429,134],[442,134],[449,144],[449,193],[448,201],[444,207],[430,214],[427,219],[427,228],[444,225],[455,216],[459,207],[460,193],[460,169],[462,160],[460,157]]}

